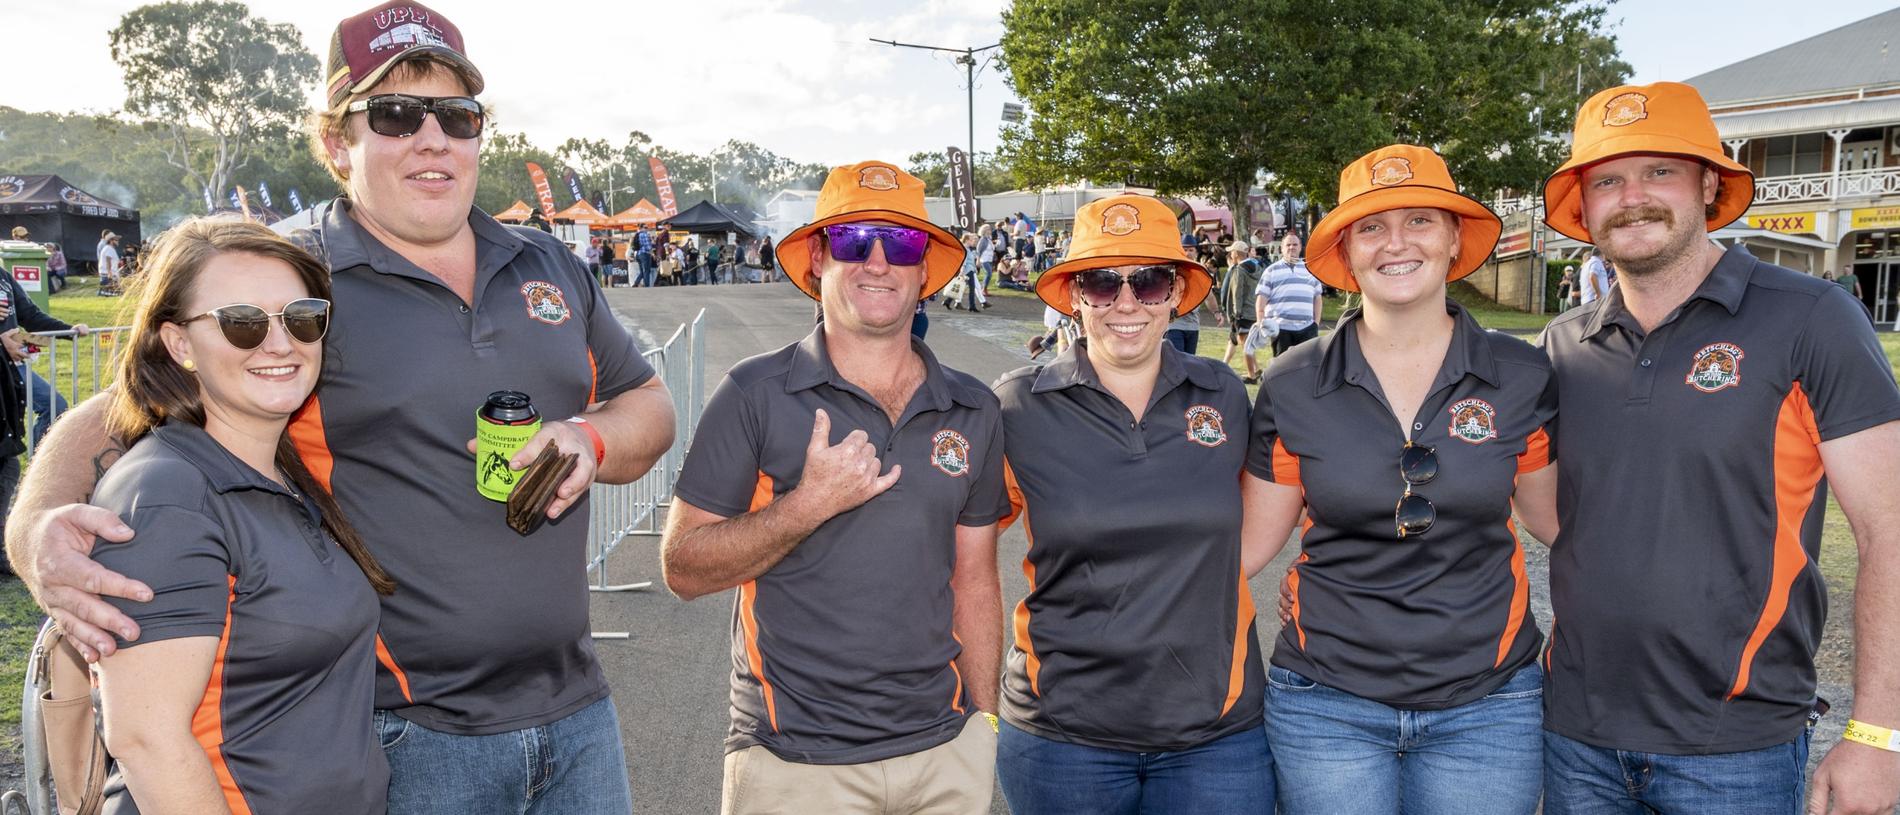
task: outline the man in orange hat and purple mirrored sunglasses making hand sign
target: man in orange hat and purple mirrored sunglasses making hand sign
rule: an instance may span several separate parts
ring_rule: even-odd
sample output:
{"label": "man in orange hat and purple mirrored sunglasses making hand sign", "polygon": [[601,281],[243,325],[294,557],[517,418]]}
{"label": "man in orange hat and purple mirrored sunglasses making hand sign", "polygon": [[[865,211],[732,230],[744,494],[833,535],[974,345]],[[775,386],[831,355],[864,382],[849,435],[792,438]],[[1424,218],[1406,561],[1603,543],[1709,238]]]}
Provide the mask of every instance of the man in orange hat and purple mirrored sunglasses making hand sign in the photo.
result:
{"label": "man in orange hat and purple mirrored sunglasses making hand sign", "polygon": [[712,391],[661,541],[674,595],[739,589],[720,811],[988,813],[1001,410],[910,336],[963,245],[863,161],[777,255],[825,319]]}

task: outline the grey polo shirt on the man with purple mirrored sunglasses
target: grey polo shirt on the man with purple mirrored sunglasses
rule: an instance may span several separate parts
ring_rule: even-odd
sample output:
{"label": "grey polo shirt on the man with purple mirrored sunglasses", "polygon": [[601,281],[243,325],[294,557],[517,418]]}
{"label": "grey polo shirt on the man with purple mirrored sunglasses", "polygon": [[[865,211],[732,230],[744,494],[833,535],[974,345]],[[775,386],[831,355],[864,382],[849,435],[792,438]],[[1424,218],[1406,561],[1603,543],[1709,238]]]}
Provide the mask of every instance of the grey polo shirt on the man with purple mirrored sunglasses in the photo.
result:
{"label": "grey polo shirt on the man with purple mirrored sunglasses", "polygon": [[735,365],[707,399],[674,494],[722,517],[764,509],[798,486],[811,418],[830,443],[870,435],[897,484],[821,524],[732,612],[732,733],[798,764],[863,764],[954,739],[977,712],[956,657],[956,528],[1005,515],[996,395],[937,363],[897,424],[846,382],[825,327]]}

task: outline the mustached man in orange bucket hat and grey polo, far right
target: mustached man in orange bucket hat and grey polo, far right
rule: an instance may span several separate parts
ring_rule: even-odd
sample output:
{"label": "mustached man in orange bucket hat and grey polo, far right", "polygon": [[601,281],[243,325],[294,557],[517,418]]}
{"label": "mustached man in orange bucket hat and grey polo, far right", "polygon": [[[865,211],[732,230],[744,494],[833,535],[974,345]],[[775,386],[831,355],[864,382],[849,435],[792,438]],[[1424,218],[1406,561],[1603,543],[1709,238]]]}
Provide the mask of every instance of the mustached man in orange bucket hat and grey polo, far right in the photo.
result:
{"label": "mustached man in orange bucket hat and grey polo, far right", "polygon": [[[1545,222],[1621,283],[1550,323],[1558,376],[1545,811],[1794,813],[1826,619],[1832,484],[1860,547],[1854,705],[1809,813],[1900,788],[1900,388],[1841,287],[1723,251],[1754,199],[1708,106],[1598,93],[1545,182]],[[1832,809],[1830,809],[1832,798]]]}

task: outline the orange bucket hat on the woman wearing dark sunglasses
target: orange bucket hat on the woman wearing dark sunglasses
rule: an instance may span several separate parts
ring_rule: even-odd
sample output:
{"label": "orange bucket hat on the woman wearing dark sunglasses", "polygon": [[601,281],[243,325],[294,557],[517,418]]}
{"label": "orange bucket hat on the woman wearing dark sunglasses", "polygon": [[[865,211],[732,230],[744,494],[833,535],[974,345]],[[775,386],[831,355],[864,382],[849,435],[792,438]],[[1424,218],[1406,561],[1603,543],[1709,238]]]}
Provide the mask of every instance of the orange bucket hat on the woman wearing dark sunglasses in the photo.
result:
{"label": "orange bucket hat on the woman wearing dark sunglasses", "polygon": [[1036,281],[1036,296],[1074,317],[1070,279],[1075,272],[1130,264],[1174,264],[1188,285],[1182,291],[1180,313],[1193,312],[1214,289],[1214,275],[1206,266],[1197,264],[1182,249],[1174,209],[1159,198],[1129,192],[1089,201],[1075,211],[1070,251]]}

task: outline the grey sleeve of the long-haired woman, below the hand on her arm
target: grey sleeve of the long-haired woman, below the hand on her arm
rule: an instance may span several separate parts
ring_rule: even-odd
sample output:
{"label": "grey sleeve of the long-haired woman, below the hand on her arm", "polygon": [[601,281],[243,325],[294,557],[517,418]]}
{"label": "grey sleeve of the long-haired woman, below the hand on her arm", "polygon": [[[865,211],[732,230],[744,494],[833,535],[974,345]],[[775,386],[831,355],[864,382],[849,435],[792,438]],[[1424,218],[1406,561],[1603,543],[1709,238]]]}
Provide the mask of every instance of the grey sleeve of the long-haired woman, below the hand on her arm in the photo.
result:
{"label": "grey sleeve of the long-haired woman, below the hand on her arm", "polygon": [[152,602],[104,597],[139,623],[139,638],[118,638],[118,646],[222,635],[234,574],[224,528],[175,505],[133,507],[124,519],[133,530],[131,541],[99,541],[93,560],[150,585]]}

